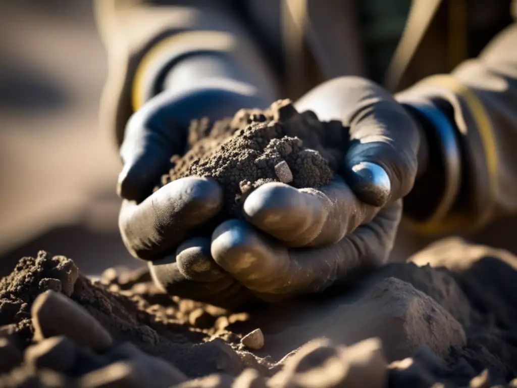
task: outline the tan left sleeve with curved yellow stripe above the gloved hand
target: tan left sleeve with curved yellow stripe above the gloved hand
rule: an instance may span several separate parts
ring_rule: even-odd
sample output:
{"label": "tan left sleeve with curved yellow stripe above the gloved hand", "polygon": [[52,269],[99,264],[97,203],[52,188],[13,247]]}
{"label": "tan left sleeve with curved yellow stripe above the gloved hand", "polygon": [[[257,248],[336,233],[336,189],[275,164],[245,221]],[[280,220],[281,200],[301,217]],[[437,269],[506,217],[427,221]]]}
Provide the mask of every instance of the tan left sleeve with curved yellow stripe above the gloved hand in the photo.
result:
{"label": "tan left sleeve with curved yellow stripe above the gloved hand", "polygon": [[225,71],[230,77],[259,87],[266,96],[277,95],[275,74],[230,2],[168,3],[173,5],[142,0],[95,3],[99,34],[108,53],[100,123],[115,135],[117,145],[131,114],[160,92],[171,68],[193,56],[217,57],[217,66],[232,68]]}

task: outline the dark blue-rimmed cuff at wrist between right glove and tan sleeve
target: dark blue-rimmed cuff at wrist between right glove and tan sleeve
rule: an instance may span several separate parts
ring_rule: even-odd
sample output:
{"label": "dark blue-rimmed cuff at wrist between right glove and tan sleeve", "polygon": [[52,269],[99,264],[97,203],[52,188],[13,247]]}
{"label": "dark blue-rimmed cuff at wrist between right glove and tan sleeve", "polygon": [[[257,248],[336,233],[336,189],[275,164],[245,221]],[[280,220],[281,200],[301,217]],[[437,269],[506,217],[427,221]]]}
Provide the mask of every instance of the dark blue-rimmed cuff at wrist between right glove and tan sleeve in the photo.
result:
{"label": "dark blue-rimmed cuff at wrist between right glove and tan sleeve", "polygon": [[400,100],[420,131],[419,175],[404,199],[405,216],[421,230],[439,230],[453,211],[461,188],[457,129],[437,101],[405,96]]}

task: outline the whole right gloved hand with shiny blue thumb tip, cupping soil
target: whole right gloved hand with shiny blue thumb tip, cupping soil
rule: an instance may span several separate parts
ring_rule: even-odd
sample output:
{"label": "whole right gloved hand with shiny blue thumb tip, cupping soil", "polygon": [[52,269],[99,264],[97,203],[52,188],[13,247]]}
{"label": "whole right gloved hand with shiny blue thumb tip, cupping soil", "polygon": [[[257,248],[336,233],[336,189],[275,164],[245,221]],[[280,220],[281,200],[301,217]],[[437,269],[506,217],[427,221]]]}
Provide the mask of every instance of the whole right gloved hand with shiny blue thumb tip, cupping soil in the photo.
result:
{"label": "whole right gloved hand with shiny blue thumb tip, cupping soil", "polygon": [[[417,173],[416,122],[389,93],[358,78],[322,84],[296,108],[349,127],[345,176],[334,177],[319,190],[282,183],[259,187],[244,203],[246,220],[218,226],[210,252],[200,252],[195,266],[177,256],[179,272],[203,282],[207,278],[195,267],[217,270],[217,263],[216,277],[226,279],[233,293],[278,301],[323,291],[386,261],[402,213],[401,198]],[[151,267],[155,280],[169,292],[177,290],[168,270],[172,262],[165,258]]]}

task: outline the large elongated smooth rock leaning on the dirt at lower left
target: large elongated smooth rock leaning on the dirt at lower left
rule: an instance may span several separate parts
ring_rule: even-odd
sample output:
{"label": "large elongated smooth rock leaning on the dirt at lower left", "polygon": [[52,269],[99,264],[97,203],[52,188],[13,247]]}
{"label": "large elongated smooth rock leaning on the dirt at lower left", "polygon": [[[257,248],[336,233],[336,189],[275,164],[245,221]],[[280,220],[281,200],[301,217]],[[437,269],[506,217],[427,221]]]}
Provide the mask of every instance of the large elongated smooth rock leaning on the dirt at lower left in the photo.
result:
{"label": "large elongated smooth rock leaning on the dirt at lower left", "polygon": [[110,333],[88,311],[63,294],[45,291],[38,295],[31,312],[36,341],[65,335],[94,351],[108,349],[113,343]]}

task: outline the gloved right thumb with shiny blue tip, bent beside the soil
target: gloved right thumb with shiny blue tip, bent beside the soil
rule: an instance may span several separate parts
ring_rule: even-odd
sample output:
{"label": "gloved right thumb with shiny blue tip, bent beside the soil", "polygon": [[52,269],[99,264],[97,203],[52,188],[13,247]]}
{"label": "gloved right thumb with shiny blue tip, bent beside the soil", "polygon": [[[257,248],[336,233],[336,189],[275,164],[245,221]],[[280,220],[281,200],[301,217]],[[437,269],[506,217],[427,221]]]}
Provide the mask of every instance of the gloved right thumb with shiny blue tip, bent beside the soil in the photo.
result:
{"label": "gloved right thumb with shiny blue tip, bent beside the soil", "polygon": [[388,92],[371,83],[356,95],[349,117],[351,141],[344,160],[348,185],[373,206],[403,198],[417,173],[418,124]]}

